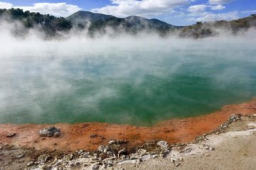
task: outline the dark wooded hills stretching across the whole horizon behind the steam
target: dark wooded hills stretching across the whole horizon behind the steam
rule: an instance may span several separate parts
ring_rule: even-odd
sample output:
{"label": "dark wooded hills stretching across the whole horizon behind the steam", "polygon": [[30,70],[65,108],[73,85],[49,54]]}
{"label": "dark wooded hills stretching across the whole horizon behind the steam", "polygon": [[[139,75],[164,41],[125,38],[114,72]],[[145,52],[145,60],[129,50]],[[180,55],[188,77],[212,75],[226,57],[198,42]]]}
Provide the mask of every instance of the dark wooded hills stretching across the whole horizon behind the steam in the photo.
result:
{"label": "dark wooded hills stretching across the whole horizon behind the steam", "polygon": [[48,38],[54,38],[56,35],[61,36],[71,29],[76,30],[76,33],[86,29],[90,36],[104,35],[105,33],[136,35],[142,32],[154,32],[161,36],[178,35],[184,38],[206,38],[218,35],[218,30],[226,30],[236,34],[239,31],[246,31],[248,28],[256,28],[256,14],[233,21],[197,22],[192,26],[185,27],[173,26],[155,18],[147,19],[139,16],[117,18],[102,13],[78,11],[67,18],[63,18],[23,11],[19,8],[0,9],[0,19],[0,21],[14,23],[14,28],[11,28],[11,31],[15,35],[26,35],[30,28],[36,28],[45,33]]}

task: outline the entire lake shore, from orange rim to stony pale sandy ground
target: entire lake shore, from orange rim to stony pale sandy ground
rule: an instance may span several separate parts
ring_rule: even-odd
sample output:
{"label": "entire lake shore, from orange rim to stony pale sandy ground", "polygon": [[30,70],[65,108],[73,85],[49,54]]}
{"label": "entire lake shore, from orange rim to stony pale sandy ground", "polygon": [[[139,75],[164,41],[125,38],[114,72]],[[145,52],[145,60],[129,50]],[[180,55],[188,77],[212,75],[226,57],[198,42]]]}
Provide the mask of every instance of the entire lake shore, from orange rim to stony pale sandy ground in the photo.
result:
{"label": "entire lake shore, from orange rim to stony pale sandy ground", "polygon": [[[229,123],[225,123],[230,115],[238,113],[243,116],[232,117]],[[134,156],[136,159],[110,159],[114,169],[252,169],[255,167],[255,113],[256,100],[252,99],[247,103],[224,106],[220,111],[209,115],[167,120],[152,128],[107,123],[58,124],[55,126],[60,128],[61,135],[57,138],[38,136],[38,130],[48,125],[0,125],[1,167],[24,169],[28,162],[36,162],[43,154],[50,155],[47,162],[33,164],[28,169],[36,166],[53,167],[57,160],[54,160],[55,157],[65,162],[64,157],[75,153],[73,159],[69,159],[65,165],[67,169],[92,169],[105,164],[102,161],[106,159],[104,154],[102,156],[95,152],[97,159],[102,156],[101,161],[91,160],[89,163],[78,154],[87,152],[78,152],[78,149],[92,152],[100,145],[107,146],[110,140],[127,140],[124,145],[114,146],[117,147],[115,149],[126,148],[129,157],[134,152],[146,152],[141,156]],[[7,138],[6,134],[11,132],[16,135]],[[161,150],[164,145],[161,149],[156,146],[159,140],[169,143],[167,147],[170,152]],[[21,154],[22,157],[17,158]]]}

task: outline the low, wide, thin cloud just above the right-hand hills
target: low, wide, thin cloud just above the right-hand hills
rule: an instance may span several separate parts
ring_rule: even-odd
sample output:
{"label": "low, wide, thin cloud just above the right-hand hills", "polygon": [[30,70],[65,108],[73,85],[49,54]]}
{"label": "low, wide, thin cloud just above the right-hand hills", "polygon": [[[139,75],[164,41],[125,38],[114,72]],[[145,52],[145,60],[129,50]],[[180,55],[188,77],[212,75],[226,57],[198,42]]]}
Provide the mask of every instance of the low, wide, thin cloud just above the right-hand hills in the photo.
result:
{"label": "low, wide, thin cloud just above the right-hand hills", "polygon": [[204,12],[193,18],[188,18],[188,21],[218,21],[218,20],[234,20],[238,19],[238,11],[233,11],[229,13],[208,13]]}

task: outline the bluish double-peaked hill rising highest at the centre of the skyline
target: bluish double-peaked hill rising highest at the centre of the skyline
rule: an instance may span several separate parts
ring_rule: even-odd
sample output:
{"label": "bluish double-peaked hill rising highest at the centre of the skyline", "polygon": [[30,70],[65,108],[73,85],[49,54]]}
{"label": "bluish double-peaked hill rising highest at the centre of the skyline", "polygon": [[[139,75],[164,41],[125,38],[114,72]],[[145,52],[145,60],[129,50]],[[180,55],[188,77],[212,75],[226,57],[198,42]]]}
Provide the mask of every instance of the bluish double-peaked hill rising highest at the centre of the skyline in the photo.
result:
{"label": "bluish double-peaked hill rising highest at the centre of the skyline", "polygon": [[92,13],[88,11],[78,11],[66,18],[73,23],[76,28],[89,28],[90,33],[105,33],[105,28],[112,28],[126,33],[139,33],[142,30],[155,30],[161,34],[170,29],[178,28],[158,19],[146,19],[139,16],[128,16],[127,18],[117,18],[115,16],[102,13]]}

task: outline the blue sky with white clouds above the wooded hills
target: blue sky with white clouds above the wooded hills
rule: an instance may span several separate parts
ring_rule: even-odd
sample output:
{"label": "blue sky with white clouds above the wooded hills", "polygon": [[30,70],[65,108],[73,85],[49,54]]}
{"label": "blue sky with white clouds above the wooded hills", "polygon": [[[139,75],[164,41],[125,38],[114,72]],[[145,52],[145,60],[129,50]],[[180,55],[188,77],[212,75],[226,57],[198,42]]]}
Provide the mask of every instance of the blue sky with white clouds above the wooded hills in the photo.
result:
{"label": "blue sky with white clouds above the wooded hills", "polygon": [[79,10],[118,17],[158,18],[176,26],[233,20],[256,13],[256,0],[0,0],[0,8],[69,16]]}

